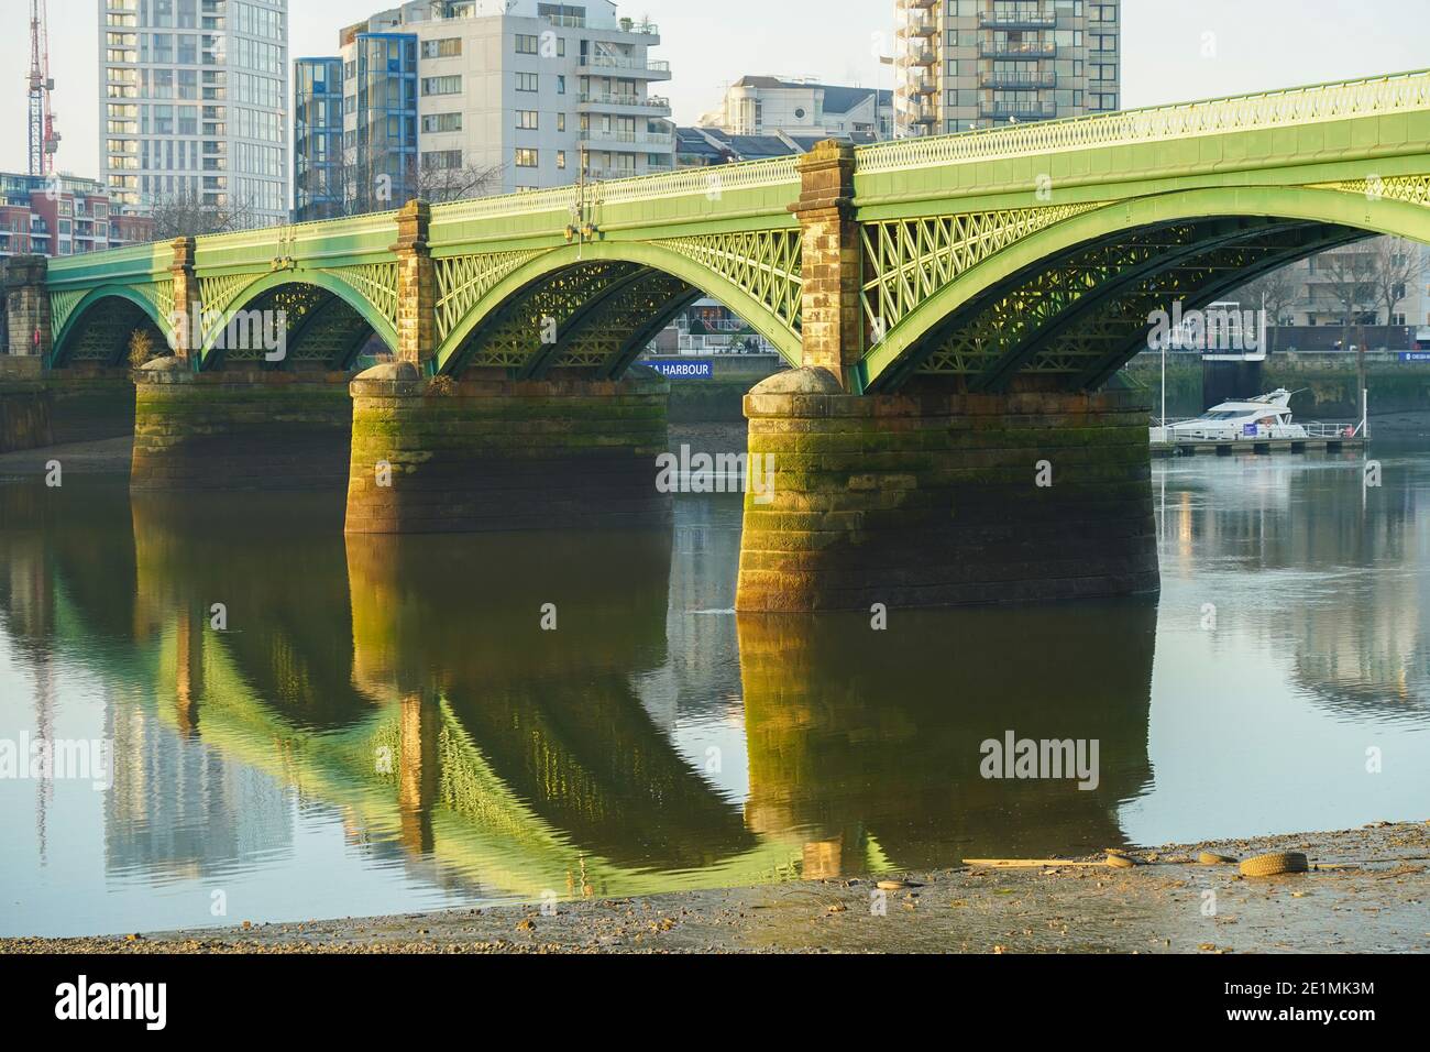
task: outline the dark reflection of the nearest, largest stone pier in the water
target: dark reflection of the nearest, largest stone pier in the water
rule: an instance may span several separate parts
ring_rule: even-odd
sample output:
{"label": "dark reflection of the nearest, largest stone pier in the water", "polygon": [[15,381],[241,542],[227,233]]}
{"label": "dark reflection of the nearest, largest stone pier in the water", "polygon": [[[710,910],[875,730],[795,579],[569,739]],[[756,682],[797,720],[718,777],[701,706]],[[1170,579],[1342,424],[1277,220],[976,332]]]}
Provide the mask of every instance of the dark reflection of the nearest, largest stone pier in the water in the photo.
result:
{"label": "dark reflection of the nearest, largest stone pier in the water", "polygon": [[[1118,806],[1151,781],[1157,610],[997,608],[738,620],[746,820],[805,830],[805,875],[1050,854],[1123,840]],[[1098,784],[997,780],[985,740],[1097,740]]]}

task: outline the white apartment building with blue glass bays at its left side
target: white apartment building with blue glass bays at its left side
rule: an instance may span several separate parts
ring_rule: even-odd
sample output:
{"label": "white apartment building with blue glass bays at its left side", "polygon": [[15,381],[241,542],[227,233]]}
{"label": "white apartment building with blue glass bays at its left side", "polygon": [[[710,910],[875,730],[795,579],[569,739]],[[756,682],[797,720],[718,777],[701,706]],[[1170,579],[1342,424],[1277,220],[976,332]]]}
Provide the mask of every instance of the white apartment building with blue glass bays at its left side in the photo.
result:
{"label": "white apartment building with blue glass bays at its left side", "polygon": [[[671,77],[649,57],[659,43],[609,0],[413,0],[349,26],[340,56],[295,72],[296,216],[465,196],[476,173],[498,193],[576,182],[583,162],[592,179],[669,170],[671,106],[649,93]],[[323,167],[335,62],[342,156]]]}

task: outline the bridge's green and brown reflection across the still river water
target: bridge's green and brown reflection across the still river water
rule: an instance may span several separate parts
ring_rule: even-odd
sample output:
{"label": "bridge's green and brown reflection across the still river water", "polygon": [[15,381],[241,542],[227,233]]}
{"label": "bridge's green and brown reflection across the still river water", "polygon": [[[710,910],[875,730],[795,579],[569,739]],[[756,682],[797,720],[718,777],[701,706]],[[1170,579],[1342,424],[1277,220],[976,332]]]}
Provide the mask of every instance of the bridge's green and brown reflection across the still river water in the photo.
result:
{"label": "bridge's green and brown reflection across the still river water", "polygon": [[[854,875],[1113,843],[1151,777],[1148,604],[692,618],[732,581],[688,528],[343,540],[326,498],[49,497],[0,488],[34,525],[4,534],[4,610],[107,684],[112,872],[242,867],[293,839],[287,790],[459,897]],[[742,708],[695,716],[742,713],[746,756],[709,766],[686,684],[734,686],[736,644]],[[1098,739],[1100,786],[982,780],[1005,730]]]}

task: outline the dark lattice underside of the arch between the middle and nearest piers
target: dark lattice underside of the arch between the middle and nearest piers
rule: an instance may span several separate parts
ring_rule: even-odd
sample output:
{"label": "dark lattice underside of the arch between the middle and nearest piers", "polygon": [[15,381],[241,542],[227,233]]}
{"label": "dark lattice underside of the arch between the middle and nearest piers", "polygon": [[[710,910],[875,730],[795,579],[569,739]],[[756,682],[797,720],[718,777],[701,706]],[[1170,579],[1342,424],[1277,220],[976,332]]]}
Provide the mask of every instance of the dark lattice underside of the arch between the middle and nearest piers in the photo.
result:
{"label": "dark lattice underside of the arch between the middle and nearest piers", "polygon": [[[472,368],[529,369],[533,359],[549,355],[573,318],[602,298],[613,285],[639,273],[638,263],[595,260],[578,263],[532,282],[500,306],[490,321],[479,325],[453,355],[448,372],[460,375]],[[555,332],[552,332],[555,331]],[[555,341],[546,339],[555,336]]]}

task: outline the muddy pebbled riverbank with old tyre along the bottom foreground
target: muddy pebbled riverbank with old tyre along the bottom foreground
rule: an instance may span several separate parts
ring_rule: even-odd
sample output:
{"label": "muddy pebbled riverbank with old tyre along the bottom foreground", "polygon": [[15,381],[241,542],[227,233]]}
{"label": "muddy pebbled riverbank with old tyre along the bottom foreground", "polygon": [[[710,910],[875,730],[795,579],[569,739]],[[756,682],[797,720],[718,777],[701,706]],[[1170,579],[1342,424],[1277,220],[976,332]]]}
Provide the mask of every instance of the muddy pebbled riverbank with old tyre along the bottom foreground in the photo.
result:
{"label": "muddy pebbled riverbank with old tyre along the bottom foreground", "polygon": [[[1304,852],[1243,877],[1203,850]],[[1430,952],[1430,822],[1131,850],[1131,869],[962,866],[871,879],[89,939],[0,953],[1383,953]]]}

